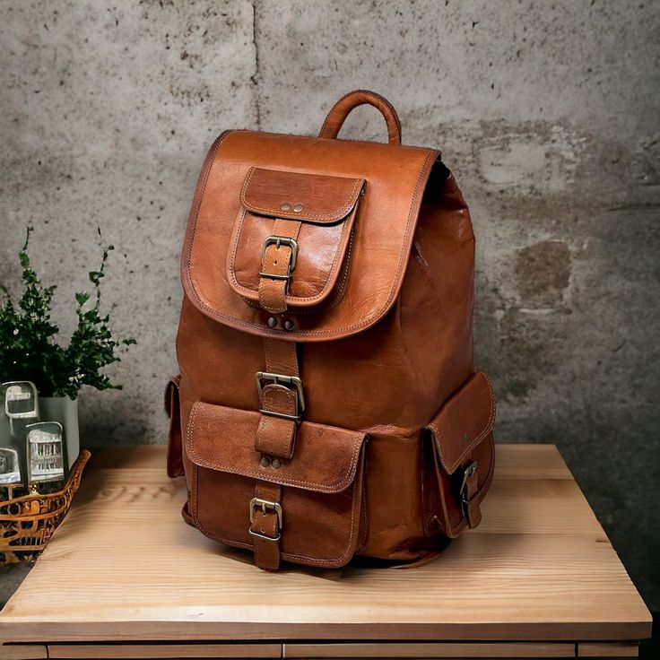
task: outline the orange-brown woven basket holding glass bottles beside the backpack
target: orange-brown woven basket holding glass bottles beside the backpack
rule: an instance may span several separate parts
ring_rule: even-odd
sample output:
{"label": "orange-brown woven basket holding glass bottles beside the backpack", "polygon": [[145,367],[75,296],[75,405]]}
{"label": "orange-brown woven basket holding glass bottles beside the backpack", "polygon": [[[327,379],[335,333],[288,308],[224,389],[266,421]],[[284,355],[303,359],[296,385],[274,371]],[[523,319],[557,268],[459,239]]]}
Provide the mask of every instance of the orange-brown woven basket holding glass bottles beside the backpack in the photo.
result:
{"label": "orange-brown woven basket holding glass bottles beside the backpack", "polygon": [[39,557],[69,510],[90,456],[81,451],[61,491],[0,502],[0,564]]}

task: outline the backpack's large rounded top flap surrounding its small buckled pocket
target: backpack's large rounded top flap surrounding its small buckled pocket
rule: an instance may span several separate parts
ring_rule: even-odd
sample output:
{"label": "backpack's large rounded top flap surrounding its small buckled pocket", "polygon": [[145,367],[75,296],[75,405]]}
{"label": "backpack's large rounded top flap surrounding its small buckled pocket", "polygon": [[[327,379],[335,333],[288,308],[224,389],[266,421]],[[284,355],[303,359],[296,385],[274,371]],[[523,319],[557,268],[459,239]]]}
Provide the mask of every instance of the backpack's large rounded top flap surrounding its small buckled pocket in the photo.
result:
{"label": "backpack's large rounded top flap surrounding its small buckled pocket", "polygon": [[[188,221],[181,261],[188,300],[205,315],[243,332],[286,335],[297,342],[338,339],[373,325],[392,307],[401,288],[424,185],[438,157],[431,149],[378,143],[249,131],[221,135],[204,165]],[[234,222],[242,213],[240,191],[253,167],[367,179],[353,233],[351,269],[369,276],[349,277],[334,307],[298,315],[292,332],[268,326],[271,313],[246,305],[225,272]]]}

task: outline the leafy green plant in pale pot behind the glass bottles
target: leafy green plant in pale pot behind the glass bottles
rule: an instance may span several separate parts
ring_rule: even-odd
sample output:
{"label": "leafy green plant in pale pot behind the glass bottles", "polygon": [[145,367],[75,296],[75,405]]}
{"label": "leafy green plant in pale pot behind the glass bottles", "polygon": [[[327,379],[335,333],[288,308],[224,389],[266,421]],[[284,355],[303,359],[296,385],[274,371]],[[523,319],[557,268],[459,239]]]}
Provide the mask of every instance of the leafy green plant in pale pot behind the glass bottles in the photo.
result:
{"label": "leafy green plant in pale pot behind the glass bottles", "polygon": [[[109,253],[114,249],[110,245],[103,249],[99,269],[89,273],[93,291],[74,294],[78,321],[74,333],[66,345],[58,343],[59,329],[50,317],[56,287],[43,286],[30,265],[31,232],[29,227],[18,255],[22,267],[22,294],[13,299],[0,283],[0,384],[5,384],[0,391],[6,393],[10,387],[18,392],[18,400],[21,396],[30,398],[30,391],[36,387],[38,406],[34,403],[32,407],[35,410],[38,407],[41,421],[61,425],[66,463],[71,467],[80,450],[78,392],[83,385],[100,390],[119,389],[121,386],[112,383],[102,369],[119,361],[119,346],[135,343],[135,339],[117,340],[109,328],[109,315],[100,311],[100,281],[105,276]],[[15,382],[26,385],[22,388],[11,386]],[[0,401],[3,407],[0,411],[0,447],[10,447],[10,439],[14,445],[17,442],[17,433],[10,426],[10,422],[16,420],[5,414],[4,399],[3,395]],[[14,417],[21,418],[21,413]],[[24,464],[27,459],[21,439],[18,445],[23,452]],[[12,456],[12,449],[8,452],[6,456]]]}

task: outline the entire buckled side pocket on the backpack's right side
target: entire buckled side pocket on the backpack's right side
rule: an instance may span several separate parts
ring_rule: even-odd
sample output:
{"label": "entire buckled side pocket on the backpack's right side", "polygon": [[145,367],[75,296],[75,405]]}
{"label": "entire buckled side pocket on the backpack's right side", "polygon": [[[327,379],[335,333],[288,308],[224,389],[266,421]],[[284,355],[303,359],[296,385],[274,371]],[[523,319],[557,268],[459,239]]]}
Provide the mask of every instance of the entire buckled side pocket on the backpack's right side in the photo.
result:
{"label": "entire buckled side pocket on the backpack's right side", "polygon": [[482,519],[495,466],[495,402],[482,371],[461,386],[423,432],[424,532],[455,538]]}

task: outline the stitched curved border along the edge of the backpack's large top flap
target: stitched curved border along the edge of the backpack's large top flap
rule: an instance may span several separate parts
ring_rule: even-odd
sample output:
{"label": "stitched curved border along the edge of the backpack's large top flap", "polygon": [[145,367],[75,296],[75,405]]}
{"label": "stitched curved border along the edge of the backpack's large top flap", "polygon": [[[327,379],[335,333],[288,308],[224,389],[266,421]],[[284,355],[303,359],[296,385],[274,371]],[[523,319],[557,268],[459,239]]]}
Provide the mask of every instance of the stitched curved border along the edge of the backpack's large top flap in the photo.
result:
{"label": "stitched curved border along the edge of the backpack's large top flap", "polygon": [[[386,309],[391,306],[393,300],[395,299],[396,282],[399,282],[400,276],[401,276],[401,271],[403,269],[404,245],[406,244],[407,239],[408,239],[408,235],[410,234],[410,220],[411,220],[411,216],[412,216],[412,209],[415,206],[416,200],[417,200],[418,195],[419,195],[419,187],[420,187],[420,183],[421,183],[421,178],[427,172],[430,157],[435,155],[435,154],[438,154],[438,153],[439,152],[435,151],[435,150],[431,150],[430,152],[427,153],[426,159],[424,160],[424,162],[422,164],[420,174],[417,178],[417,184],[415,185],[413,195],[412,195],[412,201],[411,201],[410,209],[408,211],[408,219],[407,219],[407,225],[406,225],[406,230],[405,230],[405,234],[404,234],[404,240],[402,241],[402,245],[401,245],[401,253],[399,255],[399,261],[396,265],[395,285],[390,290],[389,296],[387,297],[387,300],[385,301],[385,304],[381,308],[377,309],[375,312],[371,313],[369,315],[369,317],[363,318],[360,321],[360,323],[353,324],[352,326],[343,326],[343,327],[337,328],[336,330],[305,330],[302,334],[298,334],[298,333],[293,334],[289,331],[278,330],[278,329],[275,329],[275,328],[269,328],[266,331],[265,328],[263,328],[262,326],[257,325],[256,323],[252,323],[251,321],[244,321],[240,318],[232,317],[229,314],[222,314],[221,312],[216,311],[215,309],[213,309],[212,307],[210,307],[206,303],[204,303],[200,299],[197,291],[195,290],[195,283],[193,282],[192,275],[190,274],[190,267],[189,267],[190,266],[190,260],[189,260],[189,257],[188,257],[188,261],[187,261],[187,266],[188,267],[187,267],[187,270],[184,274],[185,279],[183,279],[184,288],[186,288],[186,283],[187,283],[188,287],[189,287],[189,290],[187,289],[187,293],[189,295],[193,296],[193,298],[195,299],[198,307],[205,309],[208,312],[209,316],[215,317],[215,318],[227,319],[230,322],[231,326],[243,326],[243,327],[249,327],[249,328],[259,330],[258,334],[267,333],[267,334],[270,334],[270,335],[273,335],[273,336],[279,336],[279,335],[287,336],[290,341],[295,341],[295,339],[298,338],[298,337],[306,337],[306,336],[336,336],[338,334],[345,334],[345,333],[350,332],[350,331],[356,331],[357,332],[362,327],[368,327],[371,324],[371,321],[372,321],[373,318],[376,318],[378,320],[378,318],[382,317],[385,314]],[[209,168],[209,170],[210,169],[211,168]],[[426,178],[428,178],[428,177],[426,177]],[[204,183],[204,187],[205,187],[205,183]],[[201,195],[201,197],[202,196],[204,196],[204,193]],[[201,197],[200,197],[200,200],[201,200]],[[200,204],[201,204],[201,201],[200,201]],[[196,226],[196,219],[195,219],[195,226]],[[194,233],[195,233],[195,227],[193,228],[193,234]],[[189,251],[192,251],[192,240],[190,242],[190,250]]]}

